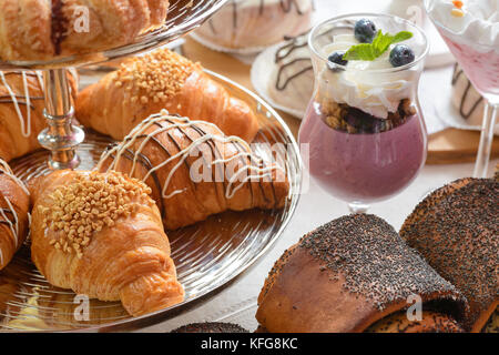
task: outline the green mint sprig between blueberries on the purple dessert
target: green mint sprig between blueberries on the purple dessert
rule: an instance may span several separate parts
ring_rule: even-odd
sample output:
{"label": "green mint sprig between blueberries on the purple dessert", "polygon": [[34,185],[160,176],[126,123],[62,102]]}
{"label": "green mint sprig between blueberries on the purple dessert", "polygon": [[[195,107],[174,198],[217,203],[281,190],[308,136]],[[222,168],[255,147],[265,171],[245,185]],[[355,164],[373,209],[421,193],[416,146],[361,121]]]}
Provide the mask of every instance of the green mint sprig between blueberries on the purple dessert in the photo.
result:
{"label": "green mint sprig between blueberries on the purple dessert", "polygon": [[406,41],[410,38],[413,38],[413,33],[408,31],[401,31],[395,36],[378,31],[373,43],[352,45],[345,55],[343,55],[343,59],[374,61],[376,58],[383,55],[391,44]]}

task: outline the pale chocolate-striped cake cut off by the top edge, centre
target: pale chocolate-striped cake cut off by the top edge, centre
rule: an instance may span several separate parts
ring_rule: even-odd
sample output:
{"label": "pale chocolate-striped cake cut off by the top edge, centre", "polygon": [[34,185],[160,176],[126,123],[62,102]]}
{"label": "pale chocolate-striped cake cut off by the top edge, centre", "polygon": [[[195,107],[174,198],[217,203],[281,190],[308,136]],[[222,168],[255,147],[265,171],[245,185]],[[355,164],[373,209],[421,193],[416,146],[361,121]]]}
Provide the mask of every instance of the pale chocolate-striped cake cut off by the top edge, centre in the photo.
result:
{"label": "pale chocolate-striped cake cut off by the top edge, centre", "polygon": [[220,50],[263,48],[308,30],[312,11],[312,0],[231,0],[194,38]]}

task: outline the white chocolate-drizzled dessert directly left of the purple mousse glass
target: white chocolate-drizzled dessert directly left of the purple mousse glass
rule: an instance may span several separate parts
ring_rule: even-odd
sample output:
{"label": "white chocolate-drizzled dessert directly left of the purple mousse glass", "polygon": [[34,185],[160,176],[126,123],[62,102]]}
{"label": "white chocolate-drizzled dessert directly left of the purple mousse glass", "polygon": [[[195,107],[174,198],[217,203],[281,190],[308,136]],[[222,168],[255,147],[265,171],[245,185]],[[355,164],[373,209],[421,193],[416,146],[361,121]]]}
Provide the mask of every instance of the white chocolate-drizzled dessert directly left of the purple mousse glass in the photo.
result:
{"label": "white chocolate-drizzled dessert directly left of the purple mousse glass", "polygon": [[307,33],[276,49],[267,92],[278,105],[305,112],[314,92],[314,70],[307,47]]}

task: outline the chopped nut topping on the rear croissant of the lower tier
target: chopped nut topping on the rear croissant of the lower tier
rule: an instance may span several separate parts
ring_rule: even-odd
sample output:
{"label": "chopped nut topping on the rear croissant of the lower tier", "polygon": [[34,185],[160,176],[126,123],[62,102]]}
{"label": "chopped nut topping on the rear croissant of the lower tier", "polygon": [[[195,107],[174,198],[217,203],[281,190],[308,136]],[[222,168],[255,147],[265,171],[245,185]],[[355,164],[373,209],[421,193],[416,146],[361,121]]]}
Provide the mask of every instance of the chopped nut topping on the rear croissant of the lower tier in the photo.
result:
{"label": "chopped nut topping on the rear croissant of the lower tier", "polygon": [[180,92],[198,64],[167,49],[132,58],[115,72],[114,84],[131,93],[131,101],[165,102]]}

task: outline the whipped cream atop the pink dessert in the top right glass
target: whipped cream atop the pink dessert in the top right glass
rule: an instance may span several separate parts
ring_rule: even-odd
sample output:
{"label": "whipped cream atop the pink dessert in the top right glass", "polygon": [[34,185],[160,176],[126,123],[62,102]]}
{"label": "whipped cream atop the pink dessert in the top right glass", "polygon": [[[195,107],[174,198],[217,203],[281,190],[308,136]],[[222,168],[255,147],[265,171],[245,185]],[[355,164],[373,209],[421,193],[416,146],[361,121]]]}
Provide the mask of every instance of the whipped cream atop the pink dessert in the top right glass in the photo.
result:
{"label": "whipped cream atop the pink dessert in the top right glass", "polygon": [[499,52],[499,0],[464,0],[464,17],[452,14],[450,0],[429,0],[430,18],[447,36],[480,51],[495,48]]}

